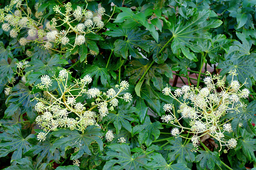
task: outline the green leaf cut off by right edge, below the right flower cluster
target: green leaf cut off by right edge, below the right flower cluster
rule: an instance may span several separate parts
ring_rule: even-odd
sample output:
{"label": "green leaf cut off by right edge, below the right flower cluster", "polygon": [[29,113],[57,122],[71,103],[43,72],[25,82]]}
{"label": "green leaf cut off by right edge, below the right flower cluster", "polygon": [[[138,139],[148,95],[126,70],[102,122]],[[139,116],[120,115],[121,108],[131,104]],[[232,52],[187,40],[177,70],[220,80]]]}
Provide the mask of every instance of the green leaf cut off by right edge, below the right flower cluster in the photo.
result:
{"label": "green leaf cut off by right edge, below the right flower cluster", "polygon": [[250,161],[256,161],[253,150],[256,149],[255,134],[247,132],[245,129],[240,129],[242,138],[239,138],[235,150],[242,150],[242,153]]}

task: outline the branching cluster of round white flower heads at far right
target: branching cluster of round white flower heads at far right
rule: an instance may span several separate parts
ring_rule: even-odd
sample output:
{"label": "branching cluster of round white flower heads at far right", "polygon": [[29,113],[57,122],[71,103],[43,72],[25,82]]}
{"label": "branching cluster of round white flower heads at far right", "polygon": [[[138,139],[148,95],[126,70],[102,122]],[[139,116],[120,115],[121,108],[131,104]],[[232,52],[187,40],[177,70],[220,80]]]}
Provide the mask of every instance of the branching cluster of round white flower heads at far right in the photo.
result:
{"label": "branching cluster of round white flower heads at far right", "polygon": [[[169,114],[161,117],[162,121],[173,124],[177,127],[173,128],[171,134],[179,135],[186,130],[192,134],[190,138],[194,145],[194,150],[198,150],[200,137],[208,135],[215,138],[222,146],[227,148],[235,148],[237,141],[235,138],[225,138],[224,133],[231,133],[232,127],[230,121],[222,120],[221,117],[228,112],[239,112],[239,109],[246,107],[246,104],[240,100],[245,99],[249,95],[249,90],[237,81],[234,77],[237,76],[236,71],[229,72],[232,77],[231,82],[226,85],[226,77],[221,79],[219,75],[212,75],[207,72],[208,77],[204,79],[206,87],[195,88],[194,86],[184,85],[181,89],[176,89],[174,94],[169,87],[163,89],[164,95],[168,95],[180,103],[178,114],[175,114],[173,104],[165,104],[164,111]],[[178,115],[181,115],[178,117]],[[189,120],[189,127],[181,125],[181,119]],[[224,122],[223,122],[224,121]],[[239,124],[240,125],[240,124]],[[220,151],[219,150],[219,151]],[[225,150],[226,151],[226,150]]]}

